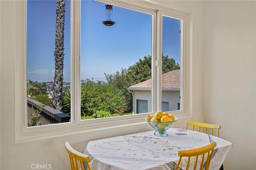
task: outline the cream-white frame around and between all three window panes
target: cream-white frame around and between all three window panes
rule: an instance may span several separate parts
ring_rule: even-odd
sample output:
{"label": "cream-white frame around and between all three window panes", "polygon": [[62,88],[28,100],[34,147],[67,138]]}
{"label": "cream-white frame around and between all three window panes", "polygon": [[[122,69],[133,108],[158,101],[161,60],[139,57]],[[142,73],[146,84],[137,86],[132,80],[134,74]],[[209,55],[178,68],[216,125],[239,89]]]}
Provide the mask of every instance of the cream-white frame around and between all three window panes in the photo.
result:
{"label": "cream-white frame around and between all three window panes", "polygon": [[[189,71],[191,60],[185,63],[185,54],[189,54],[191,44],[188,37],[188,29],[185,27],[187,23],[187,14],[185,12],[176,12],[170,7],[156,6],[152,2],[148,1],[116,1],[116,0],[97,0],[107,4],[120,6],[123,8],[129,8],[131,10],[138,10],[153,14],[152,22],[152,113],[161,109],[161,77],[162,77],[162,15],[172,18],[178,18],[183,21],[182,25],[182,44],[181,44],[181,104],[180,111],[171,111],[173,115],[178,118],[191,116],[191,88],[185,86],[185,83],[191,82],[191,75],[187,74],[185,77],[185,67]],[[107,128],[110,126],[126,126],[130,123],[146,123],[144,121],[145,114],[127,115],[120,117],[109,117],[93,120],[80,120],[80,1],[74,0],[71,2],[72,14],[71,14],[71,122],[60,123],[54,125],[43,125],[38,127],[27,127],[27,99],[26,99],[26,1],[15,1],[15,114],[16,114],[16,132],[15,141],[24,142],[41,138],[48,138],[56,135],[64,135],[67,133],[78,133],[84,131],[92,131],[99,128]],[[157,10],[156,10],[157,9]],[[156,31],[154,31],[156,30]],[[188,34],[189,35],[189,34]],[[185,49],[186,47],[186,49]],[[188,55],[189,56],[189,55]],[[156,60],[158,66],[155,67]],[[184,65],[186,64],[186,65]],[[156,77],[159,77],[156,81]],[[185,81],[186,80],[186,81]],[[186,95],[185,95],[186,94]],[[158,97],[157,97],[158,96]],[[74,103],[76,103],[74,105]],[[186,110],[185,110],[186,109]],[[186,111],[186,112],[185,112]],[[76,113],[76,114],[74,114]]]}

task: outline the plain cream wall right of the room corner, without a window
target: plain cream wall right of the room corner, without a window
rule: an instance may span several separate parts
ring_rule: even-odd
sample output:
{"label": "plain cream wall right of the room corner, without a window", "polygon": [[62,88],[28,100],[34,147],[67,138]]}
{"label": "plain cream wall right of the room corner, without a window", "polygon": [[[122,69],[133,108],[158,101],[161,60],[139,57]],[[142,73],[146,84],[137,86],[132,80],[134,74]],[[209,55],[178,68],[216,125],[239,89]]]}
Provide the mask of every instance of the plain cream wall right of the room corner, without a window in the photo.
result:
{"label": "plain cream wall right of the room corner, without a window", "polygon": [[204,122],[233,144],[225,170],[255,170],[256,1],[205,5]]}

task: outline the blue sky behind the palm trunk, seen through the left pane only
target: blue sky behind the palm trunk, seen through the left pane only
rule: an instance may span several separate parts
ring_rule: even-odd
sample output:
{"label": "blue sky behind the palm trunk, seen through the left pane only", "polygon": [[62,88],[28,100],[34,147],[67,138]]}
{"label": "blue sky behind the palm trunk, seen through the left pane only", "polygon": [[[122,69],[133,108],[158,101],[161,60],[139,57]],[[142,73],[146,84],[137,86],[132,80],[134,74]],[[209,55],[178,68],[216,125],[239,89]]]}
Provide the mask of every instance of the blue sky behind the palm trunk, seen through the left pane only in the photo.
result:
{"label": "blue sky behind the palm trunk, seen through the left pane only", "polygon": [[[64,28],[64,81],[70,81],[70,1],[66,0]],[[27,79],[53,81],[55,0],[27,1]]]}

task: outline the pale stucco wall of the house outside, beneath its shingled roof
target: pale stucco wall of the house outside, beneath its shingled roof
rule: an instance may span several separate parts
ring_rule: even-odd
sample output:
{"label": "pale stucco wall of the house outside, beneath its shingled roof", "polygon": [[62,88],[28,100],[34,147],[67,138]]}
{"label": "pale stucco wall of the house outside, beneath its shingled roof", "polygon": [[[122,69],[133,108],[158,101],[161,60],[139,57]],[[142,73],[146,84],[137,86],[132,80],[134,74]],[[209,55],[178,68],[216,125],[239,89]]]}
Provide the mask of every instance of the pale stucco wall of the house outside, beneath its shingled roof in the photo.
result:
{"label": "pale stucco wall of the house outside, beneath its shingled roof", "polygon": [[[137,114],[137,100],[148,101],[148,112],[152,110],[151,91],[148,90],[134,90],[133,91],[133,113]],[[169,111],[178,109],[180,103],[180,91],[162,91],[162,101],[169,102]]]}

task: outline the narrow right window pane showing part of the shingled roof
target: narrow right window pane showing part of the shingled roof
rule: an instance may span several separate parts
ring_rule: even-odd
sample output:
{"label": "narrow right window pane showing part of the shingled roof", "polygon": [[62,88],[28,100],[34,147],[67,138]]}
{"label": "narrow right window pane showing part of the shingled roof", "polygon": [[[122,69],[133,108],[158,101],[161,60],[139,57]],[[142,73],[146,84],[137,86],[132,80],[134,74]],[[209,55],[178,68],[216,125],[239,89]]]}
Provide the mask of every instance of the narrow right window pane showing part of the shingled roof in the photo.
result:
{"label": "narrow right window pane showing part of the shingled roof", "polygon": [[165,111],[176,111],[180,103],[181,28],[182,20],[162,16],[162,100],[170,103],[168,110],[162,105]]}

